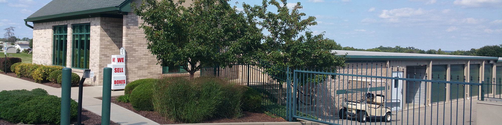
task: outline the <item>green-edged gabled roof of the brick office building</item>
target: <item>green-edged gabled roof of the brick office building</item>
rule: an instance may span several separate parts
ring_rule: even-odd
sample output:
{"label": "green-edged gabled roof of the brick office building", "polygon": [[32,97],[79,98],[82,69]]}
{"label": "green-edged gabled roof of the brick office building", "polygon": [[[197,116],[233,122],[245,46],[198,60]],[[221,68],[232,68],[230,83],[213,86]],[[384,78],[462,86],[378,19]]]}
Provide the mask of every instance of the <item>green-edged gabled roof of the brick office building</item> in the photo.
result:
{"label": "green-edged gabled roof of the brick office building", "polygon": [[[52,0],[28,16],[25,21],[65,17],[79,14],[120,10],[131,0]],[[129,11],[129,10],[127,10]]]}

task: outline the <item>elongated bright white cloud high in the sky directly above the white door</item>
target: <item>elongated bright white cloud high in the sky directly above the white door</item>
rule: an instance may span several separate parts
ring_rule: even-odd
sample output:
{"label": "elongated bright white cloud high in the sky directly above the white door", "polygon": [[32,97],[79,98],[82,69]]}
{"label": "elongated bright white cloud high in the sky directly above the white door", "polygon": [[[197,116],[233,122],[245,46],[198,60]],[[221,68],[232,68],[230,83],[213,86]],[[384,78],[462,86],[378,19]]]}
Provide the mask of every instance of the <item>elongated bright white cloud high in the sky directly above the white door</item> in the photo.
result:
{"label": "elongated bright white cloud high in the sky directly above the white door", "polygon": [[425,14],[425,11],[422,8],[418,8],[417,10],[413,8],[395,8],[391,10],[384,9],[382,10],[382,14],[379,15],[381,18],[398,18],[398,17],[409,17],[414,15],[422,15]]}

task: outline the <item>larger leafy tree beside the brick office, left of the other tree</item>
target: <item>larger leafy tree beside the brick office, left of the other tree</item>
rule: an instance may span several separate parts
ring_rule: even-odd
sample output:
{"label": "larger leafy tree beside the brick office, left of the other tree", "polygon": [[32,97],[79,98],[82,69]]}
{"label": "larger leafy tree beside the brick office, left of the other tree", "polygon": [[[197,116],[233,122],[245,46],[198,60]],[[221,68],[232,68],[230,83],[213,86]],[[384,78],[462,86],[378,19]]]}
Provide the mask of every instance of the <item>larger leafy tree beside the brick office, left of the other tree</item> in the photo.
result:
{"label": "larger leafy tree beside the brick office, left of the other tree", "polygon": [[143,0],[133,3],[144,20],[148,49],[159,63],[180,65],[193,78],[205,66],[245,61],[260,48],[261,31],[228,0]]}

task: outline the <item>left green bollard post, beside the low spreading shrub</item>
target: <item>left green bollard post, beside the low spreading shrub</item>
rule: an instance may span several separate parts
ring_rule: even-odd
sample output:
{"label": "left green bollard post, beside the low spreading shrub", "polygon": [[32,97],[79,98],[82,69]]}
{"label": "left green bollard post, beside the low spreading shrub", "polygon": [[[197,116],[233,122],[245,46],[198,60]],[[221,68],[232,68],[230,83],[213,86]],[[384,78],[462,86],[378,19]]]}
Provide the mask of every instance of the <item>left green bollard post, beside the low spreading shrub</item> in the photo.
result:
{"label": "left green bollard post, beside the low spreading shrub", "polygon": [[63,68],[61,78],[61,125],[70,124],[71,68]]}

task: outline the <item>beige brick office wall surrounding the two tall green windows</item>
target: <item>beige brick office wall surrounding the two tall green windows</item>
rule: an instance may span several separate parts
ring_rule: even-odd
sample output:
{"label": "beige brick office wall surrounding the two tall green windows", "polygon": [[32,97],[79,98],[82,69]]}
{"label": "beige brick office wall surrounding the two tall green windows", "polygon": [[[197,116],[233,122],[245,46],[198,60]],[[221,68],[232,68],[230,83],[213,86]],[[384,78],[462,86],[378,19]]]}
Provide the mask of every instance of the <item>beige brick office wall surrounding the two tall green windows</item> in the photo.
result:
{"label": "beige brick office wall surrounding the two tall green windows", "polygon": [[[54,22],[34,23],[33,29],[33,63],[52,64],[53,26],[68,25],[66,67],[71,67],[72,24],[90,23],[89,69],[95,76],[84,83],[102,84],[102,70],[106,67],[112,54],[119,54],[122,46],[122,19],[109,17],[92,17]],[[73,68],[73,72],[82,76],[82,70]]]}

